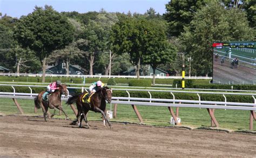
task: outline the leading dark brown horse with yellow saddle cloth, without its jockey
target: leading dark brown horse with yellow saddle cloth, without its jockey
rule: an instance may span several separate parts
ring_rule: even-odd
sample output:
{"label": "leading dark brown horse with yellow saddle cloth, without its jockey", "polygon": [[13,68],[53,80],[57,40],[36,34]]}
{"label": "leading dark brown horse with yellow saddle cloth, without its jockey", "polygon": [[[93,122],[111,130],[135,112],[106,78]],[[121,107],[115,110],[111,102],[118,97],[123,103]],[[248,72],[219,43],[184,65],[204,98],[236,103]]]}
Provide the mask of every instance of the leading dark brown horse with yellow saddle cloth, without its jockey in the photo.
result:
{"label": "leading dark brown horse with yellow saddle cloth, without its jockey", "polygon": [[[106,117],[106,101],[109,103],[111,102],[112,90],[109,89],[108,87],[100,88],[97,92],[92,94],[90,104],[87,102],[83,102],[83,100],[82,100],[85,93],[86,92],[84,92],[80,95],[72,96],[66,102],[66,104],[69,104],[69,105],[76,102],[77,120],[73,121],[73,123],[76,123],[78,121],[78,126],[82,127],[82,120],[84,119],[87,126],[89,127],[89,124],[88,124],[87,118],[86,118],[86,114],[90,110],[93,112],[102,113],[104,121],[106,120],[107,123],[109,124],[109,127],[111,128],[111,123],[110,123],[109,119],[107,119],[107,117]],[[104,126],[105,126],[105,122],[104,122]]]}

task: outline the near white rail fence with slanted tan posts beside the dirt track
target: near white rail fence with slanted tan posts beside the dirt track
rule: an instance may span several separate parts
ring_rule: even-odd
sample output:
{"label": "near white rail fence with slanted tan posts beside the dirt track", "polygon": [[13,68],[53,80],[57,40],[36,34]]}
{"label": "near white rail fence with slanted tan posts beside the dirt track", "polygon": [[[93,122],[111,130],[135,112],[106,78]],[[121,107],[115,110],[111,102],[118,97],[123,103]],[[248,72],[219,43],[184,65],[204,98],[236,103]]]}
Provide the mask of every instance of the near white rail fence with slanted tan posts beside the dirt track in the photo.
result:
{"label": "near white rail fence with slanted tan posts beside the dirt track", "polygon": [[[5,85],[11,86],[14,92],[0,92],[0,98],[12,98],[17,105],[16,99],[34,99],[37,96],[37,93],[32,93],[30,87],[45,87],[45,86],[33,86],[33,85]],[[15,86],[26,86],[30,89],[31,93],[17,93],[15,92]],[[79,88],[82,91],[85,90],[83,87],[68,87],[68,88]],[[114,117],[116,116],[117,104],[132,105],[134,112],[136,112],[140,122],[143,122],[142,117],[140,116],[136,105],[144,106],[163,106],[168,107],[169,111],[176,122],[176,125],[179,125],[177,120],[178,118],[178,108],[179,107],[191,107],[191,108],[206,108],[208,113],[211,116],[212,126],[218,127],[219,123],[215,119],[214,109],[235,109],[235,110],[246,110],[250,111],[250,129],[253,129],[253,119],[256,120],[256,93],[233,93],[233,92],[191,92],[191,91],[168,91],[168,90],[136,90],[136,89],[117,89],[113,88],[113,91],[126,91],[128,97],[112,97],[111,104],[114,104]],[[134,98],[130,97],[129,91],[146,91],[149,93],[150,98]],[[152,98],[150,92],[168,92],[171,93],[173,99],[156,99]],[[194,93],[198,95],[198,100],[181,100],[175,99],[174,93]],[[200,94],[222,94],[225,98],[225,101],[203,101],[200,98]],[[228,102],[226,101],[225,95],[251,95],[254,99],[254,103],[246,102]],[[62,100],[68,100],[68,97],[62,96]],[[18,107],[18,105],[17,105]],[[176,114],[172,111],[172,107],[176,108]],[[21,107],[18,107],[20,109]],[[75,111],[74,111],[75,112]]]}

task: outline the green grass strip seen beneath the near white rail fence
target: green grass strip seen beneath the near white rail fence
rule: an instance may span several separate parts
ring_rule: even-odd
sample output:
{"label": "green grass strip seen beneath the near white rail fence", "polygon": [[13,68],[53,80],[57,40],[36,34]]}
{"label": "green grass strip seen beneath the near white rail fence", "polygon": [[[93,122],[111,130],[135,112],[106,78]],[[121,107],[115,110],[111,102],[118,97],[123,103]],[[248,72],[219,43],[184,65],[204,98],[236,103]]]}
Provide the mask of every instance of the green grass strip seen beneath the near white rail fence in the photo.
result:
{"label": "green grass strip seen beneath the near white rail fence", "polygon": [[[28,99],[17,99],[18,103],[21,105],[24,115],[43,115],[42,109],[38,109],[37,113],[34,113],[33,100]],[[69,118],[74,120],[75,114],[73,113],[70,106],[65,104],[63,101],[64,110],[68,113]],[[143,123],[146,125],[153,126],[171,126],[170,118],[171,114],[167,107],[156,107],[156,106],[137,106],[138,111],[142,115]],[[113,111],[113,104],[111,105]],[[110,104],[107,104],[107,110],[110,110]],[[173,108],[175,111],[175,108]],[[50,113],[53,110],[50,109]],[[14,101],[9,98],[0,98],[0,114],[11,115],[19,114],[19,111],[14,104]],[[225,109],[215,109],[215,118],[219,122],[219,128],[227,130],[248,130],[249,129],[249,119],[250,111],[241,110],[225,110]],[[54,118],[65,119],[65,115],[57,115]],[[200,127],[210,127],[211,118],[205,108],[179,108],[179,118],[181,119],[181,125],[190,126],[193,128]],[[43,119],[43,118],[42,118]],[[95,112],[89,112],[87,119],[89,121],[96,120],[100,121],[101,114]],[[117,117],[110,120],[111,122],[130,122],[130,123],[140,123],[137,115],[134,113],[131,105],[118,105],[117,106]],[[255,121],[254,121],[255,124]],[[85,123],[83,122],[83,125]],[[254,125],[253,130],[256,130],[256,125]]]}

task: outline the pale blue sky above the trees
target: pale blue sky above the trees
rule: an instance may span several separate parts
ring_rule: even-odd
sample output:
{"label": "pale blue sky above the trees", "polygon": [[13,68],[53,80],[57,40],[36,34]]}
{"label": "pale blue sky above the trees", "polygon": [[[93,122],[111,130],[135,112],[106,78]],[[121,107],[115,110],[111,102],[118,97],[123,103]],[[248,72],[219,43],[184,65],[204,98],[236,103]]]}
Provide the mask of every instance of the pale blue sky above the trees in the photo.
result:
{"label": "pale blue sky above the trees", "polygon": [[145,13],[153,8],[157,13],[165,13],[165,4],[170,0],[0,0],[0,12],[2,15],[11,17],[21,17],[33,12],[35,6],[45,4],[53,6],[58,12],[77,11],[85,13],[88,11],[99,11],[104,9],[107,12],[128,11]]}

